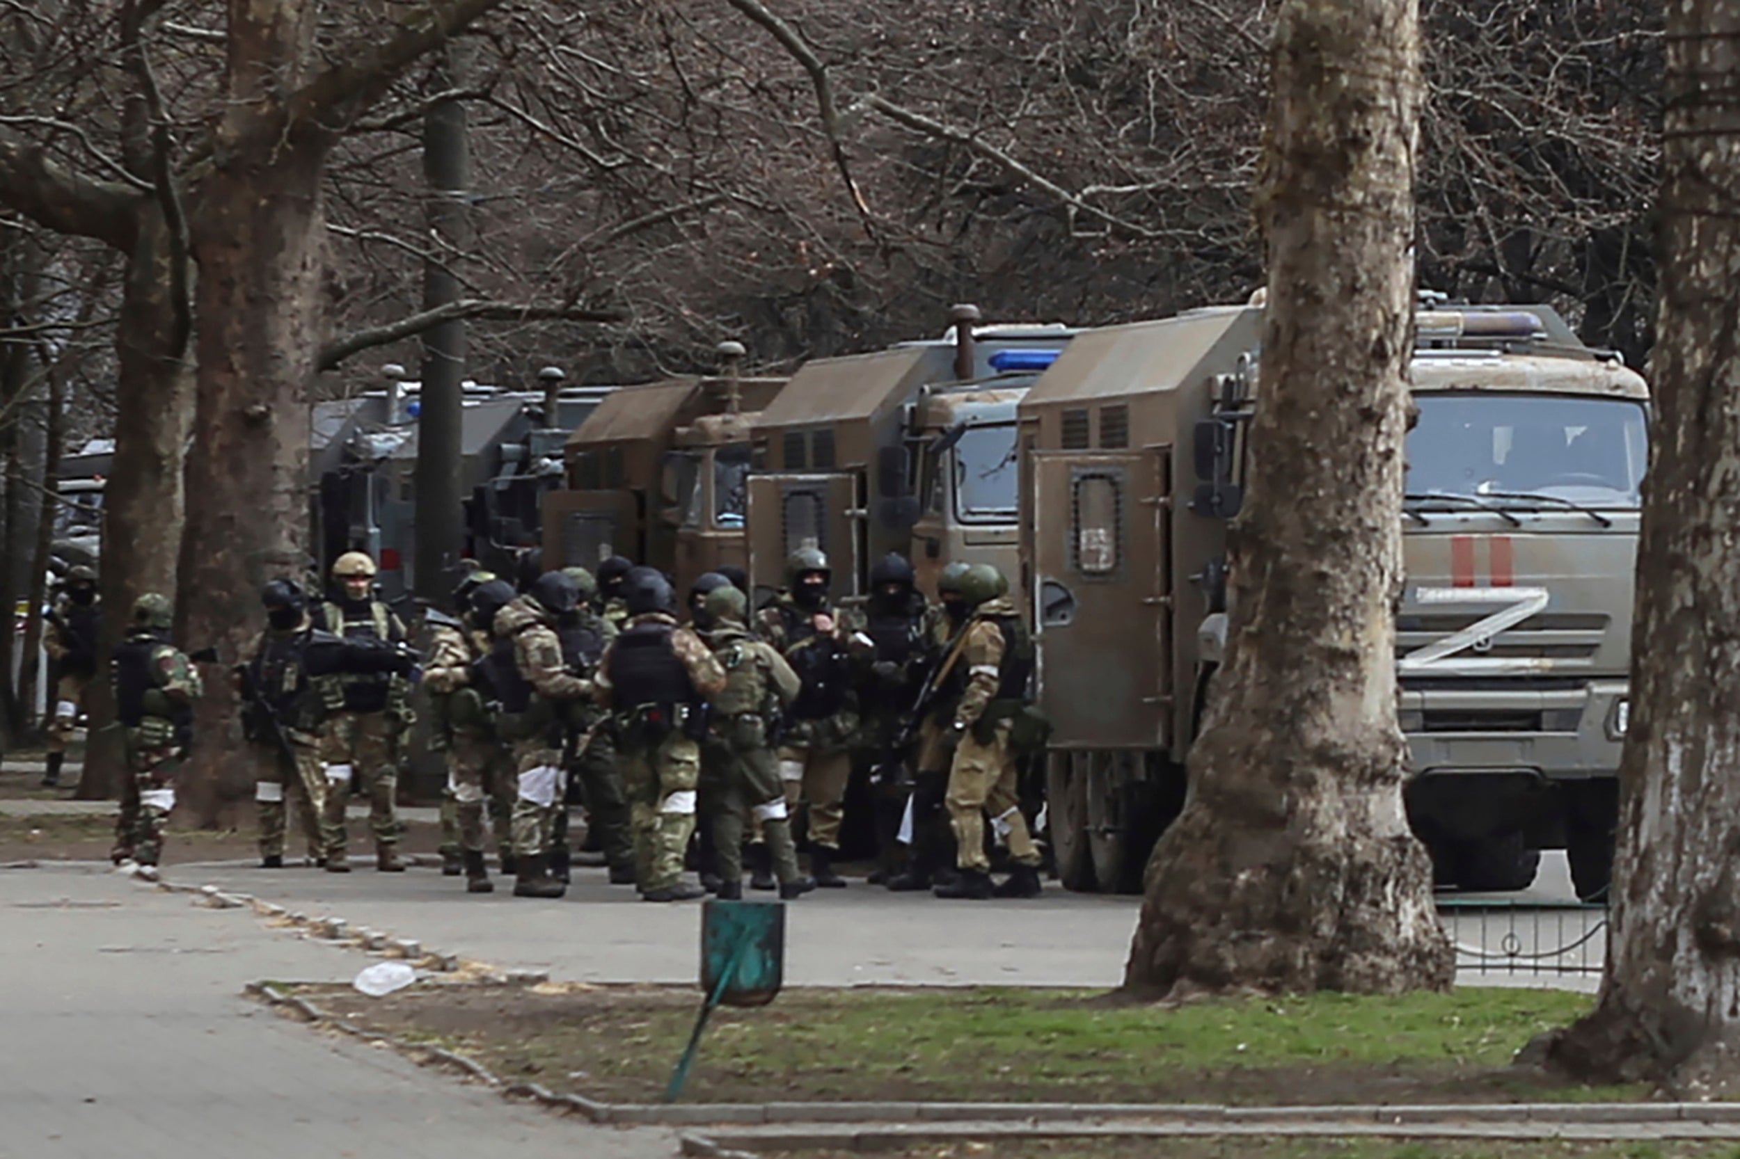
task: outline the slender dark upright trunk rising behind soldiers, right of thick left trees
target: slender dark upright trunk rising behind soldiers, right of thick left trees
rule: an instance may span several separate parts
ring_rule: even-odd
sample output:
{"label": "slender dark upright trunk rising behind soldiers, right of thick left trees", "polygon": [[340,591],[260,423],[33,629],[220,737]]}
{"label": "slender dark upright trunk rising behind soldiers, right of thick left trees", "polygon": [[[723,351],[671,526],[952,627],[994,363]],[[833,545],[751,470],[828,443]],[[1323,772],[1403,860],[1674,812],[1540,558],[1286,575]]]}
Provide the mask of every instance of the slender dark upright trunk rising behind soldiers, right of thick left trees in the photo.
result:
{"label": "slender dark upright trunk rising behind soldiers, right of thick left trees", "polygon": [[[430,70],[430,90],[452,92],[470,71],[470,45],[451,40]],[[423,259],[423,308],[459,299],[454,265],[470,249],[472,148],[465,101],[447,97],[423,115],[423,176],[428,183],[425,219],[430,247]],[[418,414],[414,590],[438,600],[447,595],[449,569],[459,559],[465,505],[461,446],[465,388],[465,322],[442,322],[423,332],[423,390]]]}

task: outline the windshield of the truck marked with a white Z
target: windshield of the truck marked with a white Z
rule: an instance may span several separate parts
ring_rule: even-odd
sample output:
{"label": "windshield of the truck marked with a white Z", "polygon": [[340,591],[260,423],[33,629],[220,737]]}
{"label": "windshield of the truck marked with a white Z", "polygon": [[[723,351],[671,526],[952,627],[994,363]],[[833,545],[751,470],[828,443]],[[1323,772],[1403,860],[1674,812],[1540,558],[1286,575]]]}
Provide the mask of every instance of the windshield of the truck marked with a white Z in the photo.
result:
{"label": "windshield of the truck marked with a white Z", "polygon": [[1505,506],[1636,508],[1648,416],[1630,399],[1416,393],[1409,496],[1491,496]]}

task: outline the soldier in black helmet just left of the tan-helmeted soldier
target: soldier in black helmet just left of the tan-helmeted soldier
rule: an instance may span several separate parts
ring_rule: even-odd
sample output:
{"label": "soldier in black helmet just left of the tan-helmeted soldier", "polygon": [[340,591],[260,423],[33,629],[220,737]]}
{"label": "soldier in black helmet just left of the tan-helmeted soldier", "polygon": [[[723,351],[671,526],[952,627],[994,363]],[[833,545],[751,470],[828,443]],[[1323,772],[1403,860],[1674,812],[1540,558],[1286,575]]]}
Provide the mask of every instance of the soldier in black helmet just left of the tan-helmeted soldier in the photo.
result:
{"label": "soldier in black helmet just left of the tan-helmeted soldier", "polygon": [[294,580],[273,580],[261,588],[259,602],[266,609],[266,630],[254,658],[238,667],[242,733],[252,741],[258,762],[259,865],[284,865],[285,814],[292,807],[308,839],[308,860],[318,863],[325,856],[320,835],[327,792],[320,766],[325,707],[317,677],[306,665],[306,651],[317,633],[308,621],[308,597]]}

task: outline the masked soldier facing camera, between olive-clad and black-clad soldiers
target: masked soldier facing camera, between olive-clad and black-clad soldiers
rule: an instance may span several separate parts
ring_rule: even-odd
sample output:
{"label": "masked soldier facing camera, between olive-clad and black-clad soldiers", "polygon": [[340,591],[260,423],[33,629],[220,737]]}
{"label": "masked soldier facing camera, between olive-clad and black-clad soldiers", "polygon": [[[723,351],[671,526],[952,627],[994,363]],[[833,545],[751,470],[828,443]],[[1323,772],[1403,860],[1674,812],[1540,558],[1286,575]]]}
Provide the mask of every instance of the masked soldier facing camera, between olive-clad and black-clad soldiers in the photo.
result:
{"label": "masked soldier facing camera, between olive-clad and black-clad soldiers", "polygon": [[[809,811],[811,877],[837,889],[846,886],[833,872],[833,858],[858,741],[858,703],[851,672],[854,625],[828,606],[832,574],[820,550],[793,552],[785,562],[786,590],[760,611],[757,628],[804,680],[780,745],[780,776],[786,806],[795,809],[802,801]],[[752,884],[767,888],[760,874]]]}

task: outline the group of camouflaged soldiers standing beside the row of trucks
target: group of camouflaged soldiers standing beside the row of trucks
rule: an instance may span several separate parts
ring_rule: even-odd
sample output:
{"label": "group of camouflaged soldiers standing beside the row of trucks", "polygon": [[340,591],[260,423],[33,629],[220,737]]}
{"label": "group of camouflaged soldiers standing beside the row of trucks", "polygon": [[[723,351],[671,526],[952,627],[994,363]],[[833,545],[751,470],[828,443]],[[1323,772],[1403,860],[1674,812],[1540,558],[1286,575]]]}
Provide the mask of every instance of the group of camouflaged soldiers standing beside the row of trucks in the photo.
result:
{"label": "group of camouflaged soldiers standing beside the row of trucks", "polygon": [[[473,569],[451,607],[426,611],[426,658],[376,597],[362,552],[336,560],[327,599],[291,578],[266,583],[266,630],[237,667],[258,747],[261,865],[285,863],[294,813],[310,860],[350,872],[346,806],[362,792],[376,868],[404,870],[397,776],[421,680],[430,748],[447,766],[444,872],[470,893],[494,889],[487,828],[515,894],[562,896],[571,804],[585,806],[607,879],[649,901],[741,898],[745,861],[750,888],[781,898],[842,888],[858,767],[872,783],[873,882],[945,898],[1037,894],[1016,762],[1044,738],[1027,698],[1034,647],[1006,578],[954,564],[931,602],[889,555],[863,606],[842,609],[828,599],[826,557],[804,548],[786,560],[785,590],[752,614],[734,571],[703,576],[679,607],[663,573],[621,557],[593,576],[541,571],[529,553],[517,583]],[[115,860],[155,867],[200,694],[169,642],[164,597],[137,600],[111,670],[132,773]],[[987,818],[1007,847],[1000,884]]]}

